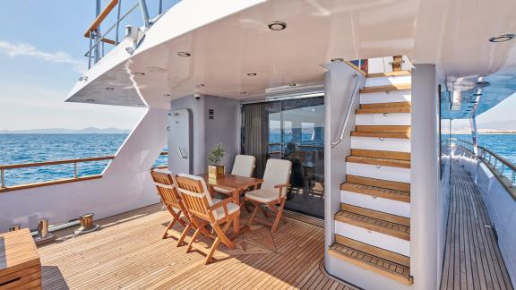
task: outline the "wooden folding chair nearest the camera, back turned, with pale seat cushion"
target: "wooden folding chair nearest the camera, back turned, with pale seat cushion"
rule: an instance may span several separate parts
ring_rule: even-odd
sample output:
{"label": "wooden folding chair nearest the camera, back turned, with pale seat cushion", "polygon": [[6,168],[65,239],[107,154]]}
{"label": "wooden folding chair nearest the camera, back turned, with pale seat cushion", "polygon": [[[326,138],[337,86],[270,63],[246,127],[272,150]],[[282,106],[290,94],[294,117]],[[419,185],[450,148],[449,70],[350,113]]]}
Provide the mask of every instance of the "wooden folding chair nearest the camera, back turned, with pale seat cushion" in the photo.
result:
{"label": "wooden folding chair nearest the camera, back turned, with pale seat cushion", "polygon": [[[185,208],[191,214],[193,222],[197,226],[197,230],[192,236],[192,241],[188,243],[186,252],[192,251],[193,243],[202,234],[202,231],[206,231],[206,226],[208,225],[211,225],[215,235],[212,236],[214,241],[210,252],[206,253],[205,264],[210,263],[213,254],[219,247],[219,243],[224,243],[229,249],[234,249],[235,243],[231,242],[226,235],[226,231],[231,224],[233,224],[234,230],[238,230],[240,226],[240,207],[233,202],[233,198],[225,200],[211,199],[204,179],[195,175],[178,175],[176,177],[176,184],[177,191],[183,200]],[[202,249],[195,248],[202,252]]]}

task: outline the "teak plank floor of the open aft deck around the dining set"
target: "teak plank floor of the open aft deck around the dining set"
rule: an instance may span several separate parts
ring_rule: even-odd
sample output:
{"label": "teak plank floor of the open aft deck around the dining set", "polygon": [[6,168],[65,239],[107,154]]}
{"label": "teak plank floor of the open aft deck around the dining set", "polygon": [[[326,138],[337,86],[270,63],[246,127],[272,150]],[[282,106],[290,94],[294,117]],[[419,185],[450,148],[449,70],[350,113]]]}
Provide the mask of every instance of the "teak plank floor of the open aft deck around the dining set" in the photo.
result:
{"label": "teak plank floor of the open aft deck around the dining set", "polygon": [[323,272],[323,228],[307,220],[288,218],[280,225],[273,235],[275,252],[238,255],[221,249],[216,261],[204,265],[201,253],[185,253],[175,238],[161,239],[170,218],[160,209],[104,218],[97,232],[40,247],[43,288],[349,289]]}

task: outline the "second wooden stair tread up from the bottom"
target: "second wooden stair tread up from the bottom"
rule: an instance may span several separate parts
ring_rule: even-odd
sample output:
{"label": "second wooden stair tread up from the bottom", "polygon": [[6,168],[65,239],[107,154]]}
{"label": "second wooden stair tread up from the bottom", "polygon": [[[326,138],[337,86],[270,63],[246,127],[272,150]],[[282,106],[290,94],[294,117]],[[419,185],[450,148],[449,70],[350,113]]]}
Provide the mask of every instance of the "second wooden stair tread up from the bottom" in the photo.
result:
{"label": "second wooden stair tread up from the bottom", "polygon": [[389,221],[359,215],[357,213],[340,210],[335,214],[335,220],[353,226],[366,228],[370,231],[391,235],[406,241],[410,241],[410,227],[400,224],[391,223]]}

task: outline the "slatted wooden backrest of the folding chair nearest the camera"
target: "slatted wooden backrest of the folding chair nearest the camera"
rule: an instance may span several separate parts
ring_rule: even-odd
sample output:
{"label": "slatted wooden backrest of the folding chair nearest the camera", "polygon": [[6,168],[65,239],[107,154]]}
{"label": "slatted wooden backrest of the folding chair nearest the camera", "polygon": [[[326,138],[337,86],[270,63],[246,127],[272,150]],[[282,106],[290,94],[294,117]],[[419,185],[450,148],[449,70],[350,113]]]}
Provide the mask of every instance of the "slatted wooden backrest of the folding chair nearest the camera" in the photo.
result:
{"label": "slatted wooden backrest of the folding chair nearest the camera", "polygon": [[176,183],[185,208],[198,218],[210,220],[209,208],[213,205],[213,200],[204,179],[195,175],[179,174],[176,176]]}

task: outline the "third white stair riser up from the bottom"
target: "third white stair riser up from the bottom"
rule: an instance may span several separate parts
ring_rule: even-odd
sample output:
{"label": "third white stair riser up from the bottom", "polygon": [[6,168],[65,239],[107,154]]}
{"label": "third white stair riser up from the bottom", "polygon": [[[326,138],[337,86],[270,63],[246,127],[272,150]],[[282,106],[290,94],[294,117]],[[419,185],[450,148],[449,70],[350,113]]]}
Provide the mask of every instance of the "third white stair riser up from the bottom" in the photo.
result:
{"label": "third white stair riser up from the bottom", "polygon": [[348,175],[410,183],[410,169],[393,166],[375,166],[370,164],[347,162]]}

